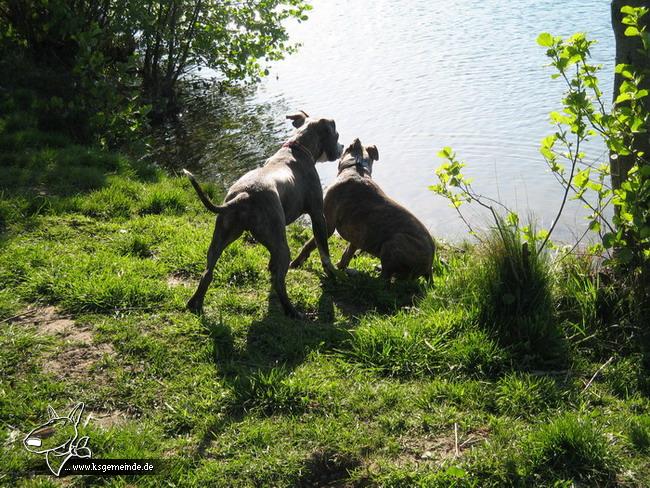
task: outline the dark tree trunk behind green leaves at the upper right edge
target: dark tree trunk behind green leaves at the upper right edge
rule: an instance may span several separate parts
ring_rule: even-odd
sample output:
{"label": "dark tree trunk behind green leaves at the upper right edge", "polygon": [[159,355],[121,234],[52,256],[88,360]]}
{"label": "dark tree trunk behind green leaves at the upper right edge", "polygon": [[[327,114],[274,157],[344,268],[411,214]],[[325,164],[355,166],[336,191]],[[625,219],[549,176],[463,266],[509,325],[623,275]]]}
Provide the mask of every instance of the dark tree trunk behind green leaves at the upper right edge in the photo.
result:
{"label": "dark tree trunk behind green leaves at the upper right edge", "polygon": [[[612,0],[612,28],[614,29],[614,37],[616,39],[616,64],[630,64],[636,68],[637,71],[648,70],[648,59],[639,50],[642,48],[641,39],[639,37],[627,37],[625,29],[627,28],[621,21],[623,15],[621,7],[630,5],[632,7],[648,7],[650,8],[650,0]],[[649,28],[650,13],[646,14],[642,19],[642,25]],[[618,96],[621,83],[624,78],[620,74],[614,76],[614,100]],[[650,90],[650,77],[646,75],[641,83],[641,88]],[[650,97],[643,99],[646,110],[650,110]],[[650,157],[650,139],[649,133],[638,134],[632,141],[635,150],[643,151],[645,158]],[[612,178],[612,187],[614,189],[620,188],[621,184],[627,179],[628,171],[634,166],[634,155],[618,156],[615,158],[610,157],[610,169]]]}

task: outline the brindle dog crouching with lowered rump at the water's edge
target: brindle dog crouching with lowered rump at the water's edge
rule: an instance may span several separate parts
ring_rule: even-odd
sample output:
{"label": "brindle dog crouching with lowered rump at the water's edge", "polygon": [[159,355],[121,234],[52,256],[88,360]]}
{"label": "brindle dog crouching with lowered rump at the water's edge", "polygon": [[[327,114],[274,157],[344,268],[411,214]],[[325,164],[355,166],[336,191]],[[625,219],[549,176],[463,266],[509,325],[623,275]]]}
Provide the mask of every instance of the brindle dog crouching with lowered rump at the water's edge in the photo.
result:
{"label": "brindle dog crouching with lowered rump at the water's edge", "polygon": [[[363,147],[355,139],[343,153],[338,177],[325,194],[328,236],[336,230],[350,243],[338,267],[347,268],[355,251],[361,249],[381,259],[382,278],[424,276],[431,280],[435,254],[431,234],[372,181],[372,164],[378,159],[376,146]],[[300,266],[314,247],[311,239],[291,267]]]}

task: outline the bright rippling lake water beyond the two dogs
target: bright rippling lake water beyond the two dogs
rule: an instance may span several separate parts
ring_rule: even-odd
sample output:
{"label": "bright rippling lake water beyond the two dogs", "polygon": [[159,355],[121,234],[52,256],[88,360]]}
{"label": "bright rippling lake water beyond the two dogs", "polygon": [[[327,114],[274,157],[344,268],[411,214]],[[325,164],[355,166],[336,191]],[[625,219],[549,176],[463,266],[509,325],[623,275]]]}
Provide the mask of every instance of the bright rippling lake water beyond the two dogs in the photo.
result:
{"label": "bright rippling lake water beyond the two dogs", "polygon": [[[481,193],[548,228],[562,189],[539,154],[553,132],[548,113],[564,87],[553,73],[540,32],[586,32],[597,39],[601,86],[611,98],[614,37],[605,0],[313,0],[305,23],[290,25],[298,53],[275,63],[256,99],[278,111],[302,109],[336,120],[343,144],[376,144],[373,177],[411,209],[435,236],[466,237],[437,183],[436,153],[451,146],[467,162]],[[590,157],[606,158],[603,147]],[[318,166],[325,185],[336,163]],[[586,228],[570,205],[555,237],[569,241]],[[468,210],[470,220],[485,216]]]}

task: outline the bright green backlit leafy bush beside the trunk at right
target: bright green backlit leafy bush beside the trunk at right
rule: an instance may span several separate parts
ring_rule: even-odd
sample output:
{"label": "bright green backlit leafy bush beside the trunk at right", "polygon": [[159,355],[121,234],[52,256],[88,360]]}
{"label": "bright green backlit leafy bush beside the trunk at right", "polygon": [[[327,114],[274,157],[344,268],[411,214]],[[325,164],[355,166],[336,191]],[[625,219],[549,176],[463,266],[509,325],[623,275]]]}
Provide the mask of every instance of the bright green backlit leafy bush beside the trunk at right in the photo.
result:
{"label": "bright green backlit leafy bush beside the trunk at right", "polygon": [[[616,249],[613,262],[639,272],[650,259],[650,160],[646,154],[650,110],[645,81],[650,41],[643,19],[648,10],[621,9],[622,24],[627,26],[624,34],[638,39],[633,50],[644,61],[616,66],[618,92],[609,113],[597,78],[600,66],[590,60],[594,41],[582,33],[567,39],[542,33],[537,39],[557,70],[553,77],[561,77],[567,86],[562,113],[550,115],[557,131],[542,141],[541,153],[565,187],[565,199],[573,192],[591,211],[589,228],[601,238],[600,249]],[[617,24],[614,28],[619,29]],[[611,162],[594,164],[581,152],[581,145],[597,134],[610,150]],[[609,204],[615,209],[611,222],[604,214]]]}

